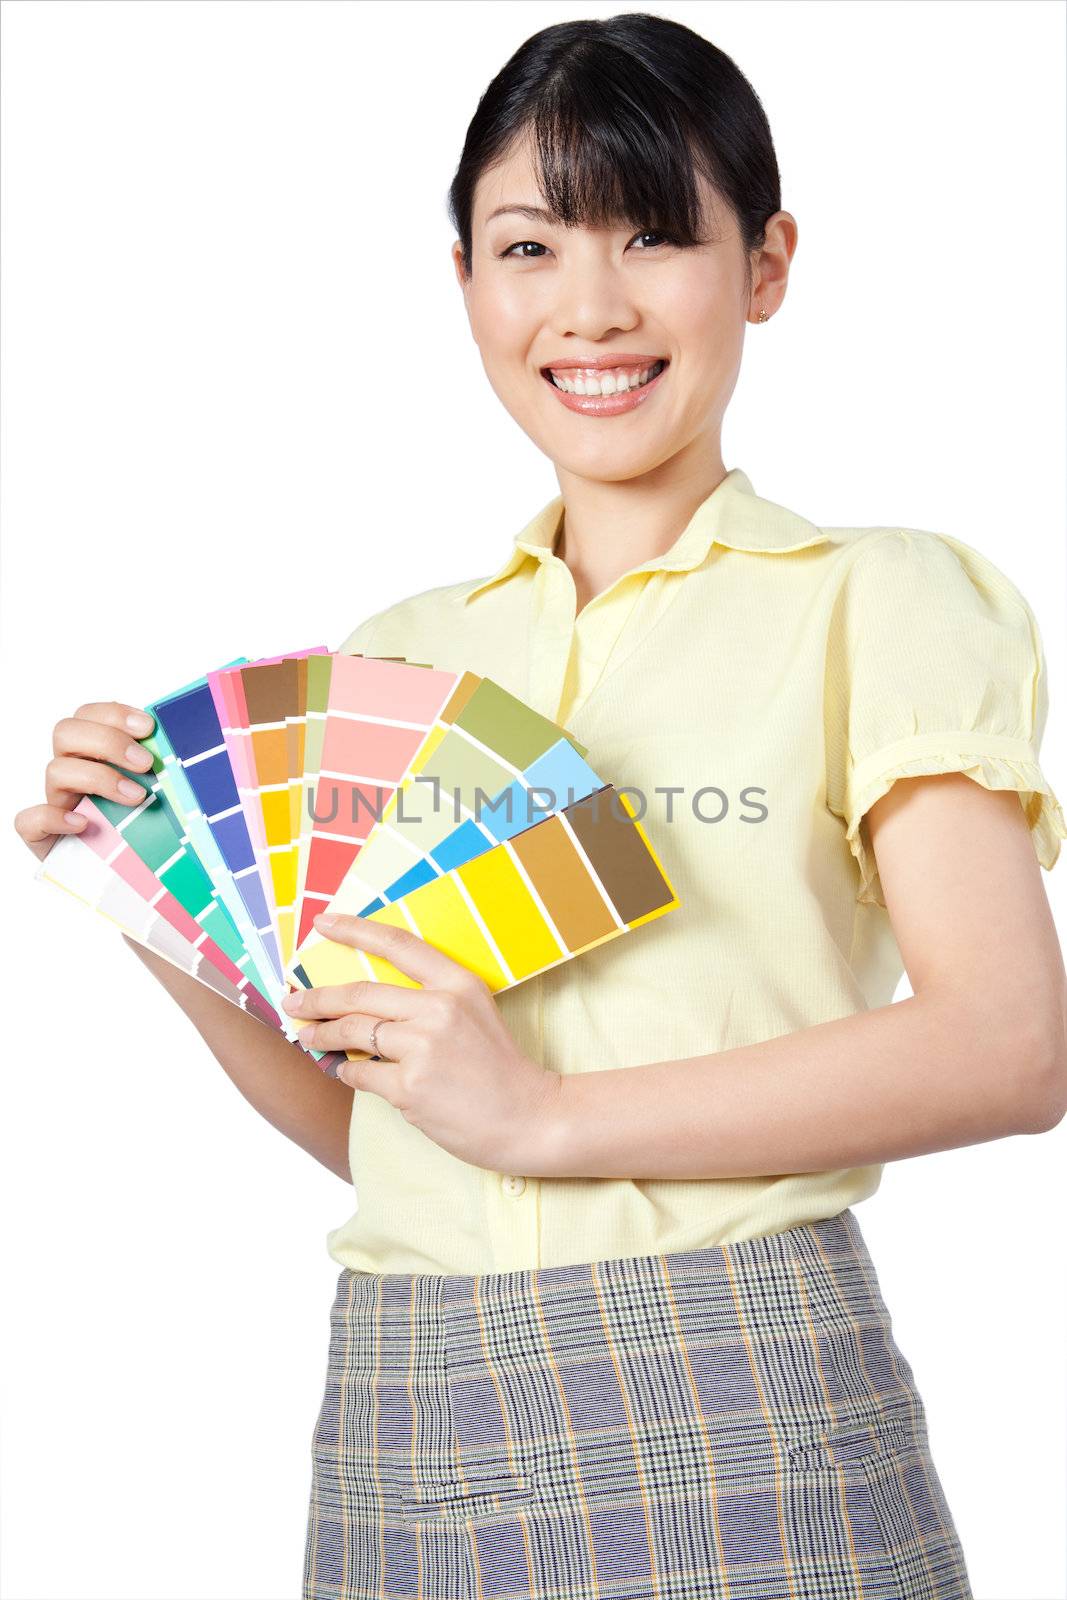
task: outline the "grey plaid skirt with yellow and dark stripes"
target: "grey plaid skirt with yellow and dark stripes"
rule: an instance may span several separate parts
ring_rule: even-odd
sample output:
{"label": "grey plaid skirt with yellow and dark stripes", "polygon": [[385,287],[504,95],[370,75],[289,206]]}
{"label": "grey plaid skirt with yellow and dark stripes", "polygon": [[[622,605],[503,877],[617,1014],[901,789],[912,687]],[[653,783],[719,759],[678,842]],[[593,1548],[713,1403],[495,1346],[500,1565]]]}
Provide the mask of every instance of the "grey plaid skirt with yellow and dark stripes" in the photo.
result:
{"label": "grey plaid skirt with yellow and dark stripes", "polygon": [[304,1600],[973,1600],[851,1210],[330,1320]]}

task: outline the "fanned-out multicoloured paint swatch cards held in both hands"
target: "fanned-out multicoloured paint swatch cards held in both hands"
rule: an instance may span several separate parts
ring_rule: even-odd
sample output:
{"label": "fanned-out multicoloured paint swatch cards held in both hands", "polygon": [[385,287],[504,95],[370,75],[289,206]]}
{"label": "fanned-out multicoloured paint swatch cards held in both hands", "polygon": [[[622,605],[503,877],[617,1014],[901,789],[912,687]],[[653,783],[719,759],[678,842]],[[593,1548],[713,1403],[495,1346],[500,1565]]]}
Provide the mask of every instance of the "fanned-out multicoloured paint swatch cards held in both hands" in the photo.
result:
{"label": "fanned-out multicoloured paint swatch cards held in both hands", "polygon": [[477,672],[317,645],[237,658],[146,709],[152,771],[117,768],[144,800],[83,797],[86,827],[37,877],[328,1075],[344,1056],[304,1051],[285,995],[418,986],[326,939],[318,912],[408,928],[499,992],[678,906],[585,746]]}

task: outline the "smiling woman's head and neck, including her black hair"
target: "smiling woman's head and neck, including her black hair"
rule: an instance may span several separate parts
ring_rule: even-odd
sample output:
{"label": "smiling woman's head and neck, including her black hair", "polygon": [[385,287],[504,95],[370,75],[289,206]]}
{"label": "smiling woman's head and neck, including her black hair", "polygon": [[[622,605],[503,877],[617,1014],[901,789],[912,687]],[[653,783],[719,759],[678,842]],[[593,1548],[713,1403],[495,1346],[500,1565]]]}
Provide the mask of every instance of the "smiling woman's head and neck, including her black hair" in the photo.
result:
{"label": "smiling woman's head and neck, including her black hair", "polygon": [[662,554],[723,477],[745,323],[781,304],[797,245],[734,62],[678,22],[627,22],[528,42],[483,94],[450,190],[470,330],[555,464],[579,610]]}

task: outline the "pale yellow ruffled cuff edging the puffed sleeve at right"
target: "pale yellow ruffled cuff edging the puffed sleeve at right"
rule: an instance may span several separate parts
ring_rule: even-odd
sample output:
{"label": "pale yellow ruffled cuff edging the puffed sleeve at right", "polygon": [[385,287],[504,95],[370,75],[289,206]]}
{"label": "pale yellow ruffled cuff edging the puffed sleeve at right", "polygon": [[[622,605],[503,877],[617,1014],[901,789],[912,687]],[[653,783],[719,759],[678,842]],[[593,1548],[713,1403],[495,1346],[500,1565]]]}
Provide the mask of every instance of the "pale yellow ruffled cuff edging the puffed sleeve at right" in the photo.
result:
{"label": "pale yellow ruffled cuff edging the puffed sleeve at right", "polygon": [[845,837],[859,867],[861,886],[856,899],[861,904],[885,906],[865,813],[897,778],[923,778],[934,773],[966,773],[984,789],[1014,789],[1022,803],[1038,862],[1045,869],[1056,864],[1061,843],[1067,838],[1067,821],[1027,741],[982,733],[973,736],[961,733],[958,741],[947,734],[920,734],[875,752],[853,770]]}

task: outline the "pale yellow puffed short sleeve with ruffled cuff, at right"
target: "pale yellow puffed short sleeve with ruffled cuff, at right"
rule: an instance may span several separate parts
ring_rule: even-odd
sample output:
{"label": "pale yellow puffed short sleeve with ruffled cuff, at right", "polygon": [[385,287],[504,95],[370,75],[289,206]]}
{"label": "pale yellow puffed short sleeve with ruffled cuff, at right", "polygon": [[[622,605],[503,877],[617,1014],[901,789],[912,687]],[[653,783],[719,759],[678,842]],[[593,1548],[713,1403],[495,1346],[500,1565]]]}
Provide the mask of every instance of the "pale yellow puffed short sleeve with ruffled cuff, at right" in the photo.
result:
{"label": "pale yellow puffed short sleeve with ruffled cuff, at right", "polygon": [[880,530],[849,554],[824,710],[827,805],[846,826],[856,898],[885,906],[865,813],[897,778],[928,773],[1014,789],[1037,858],[1053,867],[1067,824],[1038,763],[1048,678],[1025,598],[947,534]]}

